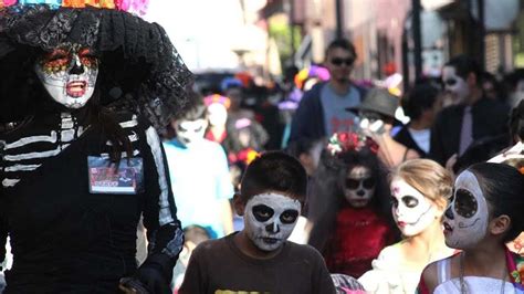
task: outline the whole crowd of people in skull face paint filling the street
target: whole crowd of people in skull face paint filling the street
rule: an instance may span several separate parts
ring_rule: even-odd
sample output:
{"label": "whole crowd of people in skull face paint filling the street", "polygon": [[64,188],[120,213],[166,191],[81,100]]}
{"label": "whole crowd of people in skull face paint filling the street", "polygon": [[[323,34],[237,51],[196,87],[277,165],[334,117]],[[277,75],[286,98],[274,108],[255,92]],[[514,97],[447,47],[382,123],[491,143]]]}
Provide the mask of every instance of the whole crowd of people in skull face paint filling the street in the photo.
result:
{"label": "whole crowd of people in skull face paint filling the street", "polygon": [[202,88],[136,3],[15,2],[0,293],[524,293],[521,71],[459,55],[399,96],[339,39]]}

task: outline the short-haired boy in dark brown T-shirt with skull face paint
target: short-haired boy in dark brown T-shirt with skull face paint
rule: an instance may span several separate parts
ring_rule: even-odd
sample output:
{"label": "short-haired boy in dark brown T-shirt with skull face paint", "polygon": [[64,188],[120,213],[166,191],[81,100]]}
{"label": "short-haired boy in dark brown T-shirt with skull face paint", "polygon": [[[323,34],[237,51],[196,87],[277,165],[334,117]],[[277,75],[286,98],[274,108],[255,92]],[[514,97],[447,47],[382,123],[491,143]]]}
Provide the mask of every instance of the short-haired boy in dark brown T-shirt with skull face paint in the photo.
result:
{"label": "short-haired boy in dark brown T-shirt with skull face paint", "polygon": [[244,229],[200,244],[179,293],[335,293],[318,252],[286,241],[306,185],[304,168],[289,155],[253,160],[234,198]]}

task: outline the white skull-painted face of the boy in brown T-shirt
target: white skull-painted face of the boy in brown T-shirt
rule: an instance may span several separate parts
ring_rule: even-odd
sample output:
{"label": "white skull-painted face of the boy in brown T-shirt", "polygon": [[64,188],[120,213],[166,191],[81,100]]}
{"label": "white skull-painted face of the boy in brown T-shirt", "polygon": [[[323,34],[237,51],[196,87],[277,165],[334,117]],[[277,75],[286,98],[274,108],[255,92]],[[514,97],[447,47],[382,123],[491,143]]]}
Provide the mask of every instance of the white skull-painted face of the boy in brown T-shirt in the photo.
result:
{"label": "white skull-painted face of the boy in brown T-shirt", "polygon": [[260,250],[274,251],[291,235],[300,214],[298,200],[279,193],[256,195],[245,204],[245,231]]}

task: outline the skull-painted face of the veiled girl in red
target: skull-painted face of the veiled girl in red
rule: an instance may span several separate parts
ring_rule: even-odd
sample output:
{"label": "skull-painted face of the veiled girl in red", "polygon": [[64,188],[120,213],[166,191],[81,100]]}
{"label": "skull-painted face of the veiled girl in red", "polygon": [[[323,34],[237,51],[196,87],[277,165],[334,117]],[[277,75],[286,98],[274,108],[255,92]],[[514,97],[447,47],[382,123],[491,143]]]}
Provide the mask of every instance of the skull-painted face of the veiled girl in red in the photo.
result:
{"label": "skull-painted face of the veiled girl in red", "polygon": [[363,208],[375,195],[375,179],[367,167],[354,167],[344,179],[344,197],[354,208]]}

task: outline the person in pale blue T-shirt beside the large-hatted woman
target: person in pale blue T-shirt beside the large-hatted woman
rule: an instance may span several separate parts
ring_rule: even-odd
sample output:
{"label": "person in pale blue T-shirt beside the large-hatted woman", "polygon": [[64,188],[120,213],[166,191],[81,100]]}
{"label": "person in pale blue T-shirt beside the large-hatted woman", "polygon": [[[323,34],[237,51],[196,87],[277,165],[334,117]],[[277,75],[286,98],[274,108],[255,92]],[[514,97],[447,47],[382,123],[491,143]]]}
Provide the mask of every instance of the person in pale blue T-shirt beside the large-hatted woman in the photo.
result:
{"label": "person in pale blue T-shirt beside the large-hatted woman", "polygon": [[176,137],[164,143],[169,178],[182,227],[198,224],[211,238],[221,238],[233,231],[229,200],[234,190],[224,150],[203,138],[206,106],[201,98],[195,101],[171,122]]}

